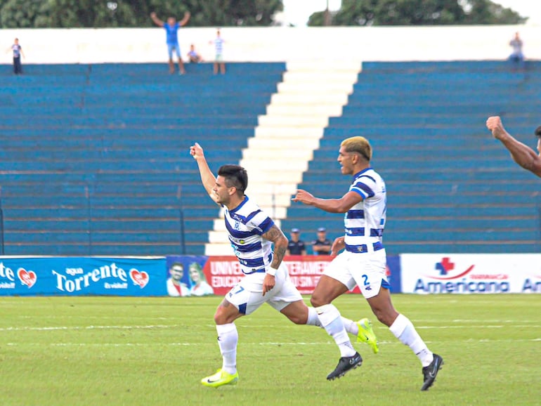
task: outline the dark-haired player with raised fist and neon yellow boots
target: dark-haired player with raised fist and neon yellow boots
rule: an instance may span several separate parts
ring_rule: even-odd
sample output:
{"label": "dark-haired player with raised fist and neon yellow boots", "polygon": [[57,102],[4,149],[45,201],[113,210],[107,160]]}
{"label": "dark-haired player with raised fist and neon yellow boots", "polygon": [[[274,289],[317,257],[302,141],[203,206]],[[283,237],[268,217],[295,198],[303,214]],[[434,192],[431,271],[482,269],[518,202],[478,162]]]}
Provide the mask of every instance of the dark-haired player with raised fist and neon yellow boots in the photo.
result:
{"label": "dark-haired player with raised fist and neon yellow boots", "polygon": [[[215,177],[198,143],[190,147],[190,154],[197,162],[207,193],[224,209],[229,241],[245,274],[226,294],[214,314],[222,367],[216,374],[204,377],[201,383],[216,388],[235,385],[239,379],[237,318],[249,315],[263,303],[268,303],[295,324],[322,325],[315,309],[308,308],[302,300],[282,263],[287,238],[274,221],[245,195],[248,185],[246,169],[238,165],[223,165]],[[368,343],[372,351],[377,352],[377,339],[370,320],[353,322],[341,318],[341,323],[345,331],[356,335],[358,341]]]}

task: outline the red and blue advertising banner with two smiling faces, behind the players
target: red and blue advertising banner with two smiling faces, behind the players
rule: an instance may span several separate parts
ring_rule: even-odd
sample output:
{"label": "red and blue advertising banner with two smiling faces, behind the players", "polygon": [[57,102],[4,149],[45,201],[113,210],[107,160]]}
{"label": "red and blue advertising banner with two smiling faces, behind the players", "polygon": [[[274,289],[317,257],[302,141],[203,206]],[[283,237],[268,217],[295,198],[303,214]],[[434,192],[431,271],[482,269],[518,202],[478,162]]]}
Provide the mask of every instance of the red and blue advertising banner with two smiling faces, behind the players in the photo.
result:
{"label": "red and blue advertising banner with two smiling faces, behind the players", "polygon": [[[286,256],[284,263],[301,294],[312,294],[332,256]],[[391,291],[400,292],[400,261],[387,258],[387,277]],[[170,296],[225,295],[244,274],[235,256],[167,257],[167,292]],[[353,293],[358,292],[358,288]]]}

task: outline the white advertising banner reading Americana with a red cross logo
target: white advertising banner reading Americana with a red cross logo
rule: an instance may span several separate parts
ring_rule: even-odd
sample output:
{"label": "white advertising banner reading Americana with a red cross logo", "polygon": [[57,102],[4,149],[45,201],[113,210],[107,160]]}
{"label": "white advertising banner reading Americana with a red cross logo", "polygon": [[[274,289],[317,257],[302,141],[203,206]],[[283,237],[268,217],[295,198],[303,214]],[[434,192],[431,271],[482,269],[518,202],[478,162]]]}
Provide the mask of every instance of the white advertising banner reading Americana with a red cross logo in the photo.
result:
{"label": "white advertising banner reading Americana with a red cross logo", "polygon": [[541,254],[402,254],[402,292],[541,293]]}

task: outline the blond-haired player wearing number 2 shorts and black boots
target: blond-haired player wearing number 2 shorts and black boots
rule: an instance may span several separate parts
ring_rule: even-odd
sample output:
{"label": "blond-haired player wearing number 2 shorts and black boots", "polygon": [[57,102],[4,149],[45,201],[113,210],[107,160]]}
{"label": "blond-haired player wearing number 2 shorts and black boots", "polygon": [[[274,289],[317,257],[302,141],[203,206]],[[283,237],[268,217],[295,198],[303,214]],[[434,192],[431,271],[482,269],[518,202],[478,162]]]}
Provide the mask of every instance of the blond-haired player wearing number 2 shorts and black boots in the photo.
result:
{"label": "blond-haired player wearing number 2 shorts and black boots", "polygon": [[370,167],[370,159],[372,147],[366,138],[346,138],[340,145],[338,162],[342,175],[353,176],[348,192],[339,199],[320,199],[299,189],[293,199],[330,213],[344,213],[345,235],[334,240],[331,255],[344,251],[323,272],[311,297],[322,326],[341,353],[336,369],[327,379],[339,378],[362,362],[351,348],[338,309],[331,304],[357,285],[377,319],[421,361],[424,378],[421,390],[426,391],[434,384],[443,359],[426,347],[412,322],[398,313],[391,303],[382,243],[387,208],[385,183]]}

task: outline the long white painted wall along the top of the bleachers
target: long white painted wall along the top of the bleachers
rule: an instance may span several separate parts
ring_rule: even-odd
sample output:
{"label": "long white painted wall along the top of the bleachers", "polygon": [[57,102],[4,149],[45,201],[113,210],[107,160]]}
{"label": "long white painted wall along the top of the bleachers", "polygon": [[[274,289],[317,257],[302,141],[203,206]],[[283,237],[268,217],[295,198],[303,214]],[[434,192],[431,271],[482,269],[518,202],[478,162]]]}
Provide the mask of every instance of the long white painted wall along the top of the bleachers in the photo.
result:
{"label": "long white painted wall along the top of the bleachers", "polygon": [[[519,31],[528,59],[541,59],[541,27],[269,27],[221,30],[232,62],[291,60],[498,60],[511,53]],[[165,33],[155,28],[0,30],[7,49],[18,37],[23,63],[155,63],[167,60]],[[183,55],[190,43],[212,60],[215,29],[179,31]],[[3,45],[2,45],[3,44]],[[1,55],[1,54],[0,54]],[[11,53],[0,63],[11,63]]]}

